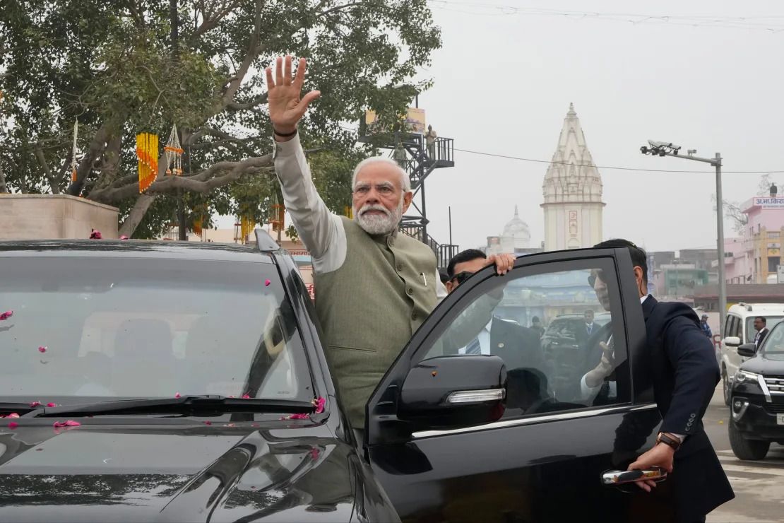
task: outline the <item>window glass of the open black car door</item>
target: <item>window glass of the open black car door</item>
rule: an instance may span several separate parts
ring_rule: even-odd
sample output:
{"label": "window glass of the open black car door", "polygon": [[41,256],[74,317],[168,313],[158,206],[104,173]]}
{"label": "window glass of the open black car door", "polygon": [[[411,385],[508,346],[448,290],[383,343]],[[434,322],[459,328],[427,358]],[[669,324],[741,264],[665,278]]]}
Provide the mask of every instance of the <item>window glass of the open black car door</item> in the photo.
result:
{"label": "window glass of the open black car door", "polygon": [[506,418],[630,401],[615,271],[598,260],[564,267],[492,276],[463,296],[462,311],[421,359],[502,358]]}

